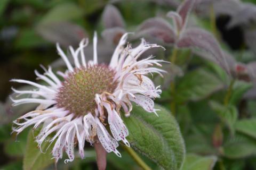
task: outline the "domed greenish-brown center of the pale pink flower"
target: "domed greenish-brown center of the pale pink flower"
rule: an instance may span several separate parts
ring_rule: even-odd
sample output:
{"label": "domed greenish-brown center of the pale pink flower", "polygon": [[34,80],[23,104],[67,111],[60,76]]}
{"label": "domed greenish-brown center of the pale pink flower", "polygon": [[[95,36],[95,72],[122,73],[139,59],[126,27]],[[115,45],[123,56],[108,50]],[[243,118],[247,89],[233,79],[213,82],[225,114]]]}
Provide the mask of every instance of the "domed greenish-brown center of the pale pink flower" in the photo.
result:
{"label": "domed greenish-brown center of the pale pink flower", "polygon": [[112,93],[116,88],[115,71],[106,65],[94,65],[76,69],[59,88],[57,106],[66,108],[76,116],[94,114],[97,104],[95,94]]}

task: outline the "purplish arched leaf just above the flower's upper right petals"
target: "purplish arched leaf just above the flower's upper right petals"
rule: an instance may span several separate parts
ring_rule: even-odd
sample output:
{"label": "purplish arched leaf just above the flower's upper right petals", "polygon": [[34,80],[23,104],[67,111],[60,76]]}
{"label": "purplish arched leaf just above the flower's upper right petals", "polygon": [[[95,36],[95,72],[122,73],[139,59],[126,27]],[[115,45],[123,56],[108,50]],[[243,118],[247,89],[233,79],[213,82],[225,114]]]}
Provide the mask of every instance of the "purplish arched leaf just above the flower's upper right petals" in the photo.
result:
{"label": "purplish arched leaf just above the flower's upper right petals", "polygon": [[171,24],[162,18],[150,18],[144,21],[137,31],[137,36],[150,35],[163,40],[165,43],[174,43],[175,32]]}

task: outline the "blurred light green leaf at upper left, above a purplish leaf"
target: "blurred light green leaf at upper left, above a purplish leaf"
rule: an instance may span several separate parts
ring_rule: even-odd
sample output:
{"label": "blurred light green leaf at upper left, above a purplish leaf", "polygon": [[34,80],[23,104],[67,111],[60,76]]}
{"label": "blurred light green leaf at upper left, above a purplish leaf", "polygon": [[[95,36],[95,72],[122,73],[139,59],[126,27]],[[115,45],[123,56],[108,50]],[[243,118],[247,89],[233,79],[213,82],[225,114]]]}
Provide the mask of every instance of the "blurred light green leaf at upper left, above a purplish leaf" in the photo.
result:
{"label": "blurred light green leaf at upper left, above a purplish leaf", "polygon": [[74,3],[63,3],[52,8],[42,18],[39,24],[52,22],[70,21],[80,18],[83,15],[83,10]]}

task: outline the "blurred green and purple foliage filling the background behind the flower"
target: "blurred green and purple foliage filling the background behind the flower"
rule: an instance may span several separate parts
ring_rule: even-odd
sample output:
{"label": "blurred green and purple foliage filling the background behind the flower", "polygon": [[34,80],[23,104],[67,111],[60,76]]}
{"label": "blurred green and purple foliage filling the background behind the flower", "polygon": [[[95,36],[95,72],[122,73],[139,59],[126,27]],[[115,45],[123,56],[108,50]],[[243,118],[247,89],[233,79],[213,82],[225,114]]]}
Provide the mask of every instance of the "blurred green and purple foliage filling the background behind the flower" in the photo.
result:
{"label": "blurred green and purple foliage filling the background behind the flower", "polygon": [[[182,28],[175,30],[175,16],[172,20],[166,13],[176,11],[181,2],[1,0],[1,169],[54,169],[51,156],[39,154],[29,129],[18,138],[11,134],[12,121],[35,105],[12,107],[11,87],[30,87],[9,80],[34,81],[40,64],[63,69],[55,43],[78,46],[84,37],[91,40],[94,31],[99,35],[101,62],[109,61],[127,31],[134,32],[133,44],[145,37],[166,48],[145,56],[172,62],[163,65],[168,72],[164,79],[154,77],[163,88],[156,103],[171,111],[180,126],[187,152],[182,169],[256,169],[256,1],[196,0],[185,10],[188,21],[182,16]],[[91,45],[85,54],[92,56]],[[37,150],[30,150],[34,154],[29,157],[28,148]],[[107,169],[140,169],[124,149],[121,153],[122,158],[108,154]],[[97,168],[94,150],[86,146],[85,154],[85,159],[67,165],[60,160],[58,169]],[[140,156],[152,169],[159,169]],[[40,162],[43,159],[47,164]]]}

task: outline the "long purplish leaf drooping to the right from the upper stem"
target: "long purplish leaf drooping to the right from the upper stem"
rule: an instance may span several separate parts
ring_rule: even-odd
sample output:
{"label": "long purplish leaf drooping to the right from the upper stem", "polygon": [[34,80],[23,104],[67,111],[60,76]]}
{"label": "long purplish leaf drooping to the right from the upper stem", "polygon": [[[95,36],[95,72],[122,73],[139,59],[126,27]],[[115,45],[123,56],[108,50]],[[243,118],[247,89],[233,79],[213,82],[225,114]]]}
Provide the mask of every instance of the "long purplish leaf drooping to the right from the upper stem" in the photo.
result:
{"label": "long purplish leaf drooping to the right from the upper stem", "polygon": [[210,53],[214,60],[229,73],[228,63],[220,45],[210,32],[199,28],[188,28],[181,34],[177,47],[204,50]]}

